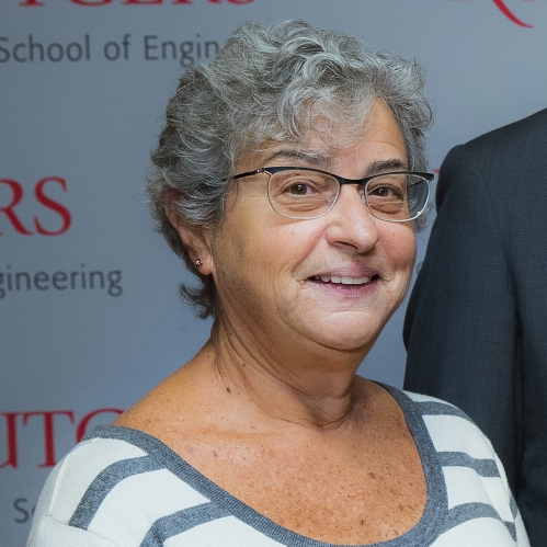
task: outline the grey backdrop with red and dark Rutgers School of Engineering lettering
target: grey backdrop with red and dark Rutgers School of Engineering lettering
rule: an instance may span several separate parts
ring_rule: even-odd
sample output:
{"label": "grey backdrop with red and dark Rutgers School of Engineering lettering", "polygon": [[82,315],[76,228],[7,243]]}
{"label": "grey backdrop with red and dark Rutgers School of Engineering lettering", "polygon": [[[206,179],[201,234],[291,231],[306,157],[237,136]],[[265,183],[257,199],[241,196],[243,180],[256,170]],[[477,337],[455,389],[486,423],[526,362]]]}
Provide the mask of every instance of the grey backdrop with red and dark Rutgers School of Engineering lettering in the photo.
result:
{"label": "grey backdrop with red and dark Rutgers School of Engineering lettering", "polygon": [[[24,545],[46,475],[78,436],[206,340],[146,209],[149,150],[181,64],[241,21],[295,18],[425,66],[432,169],[547,106],[546,0],[2,0],[0,547]],[[361,374],[401,385],[402,317]]]}

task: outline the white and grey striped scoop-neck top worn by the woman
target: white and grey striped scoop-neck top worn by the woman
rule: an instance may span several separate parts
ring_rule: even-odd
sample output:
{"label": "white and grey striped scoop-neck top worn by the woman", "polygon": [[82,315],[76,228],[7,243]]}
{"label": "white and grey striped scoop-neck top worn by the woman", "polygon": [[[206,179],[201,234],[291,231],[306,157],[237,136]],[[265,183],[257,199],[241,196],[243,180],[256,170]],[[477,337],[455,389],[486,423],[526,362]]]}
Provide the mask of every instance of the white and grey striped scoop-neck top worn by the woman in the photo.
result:
{"label": "white and grey striped scoop-neck top worn by the woman", "polygon": [[[460,410],[387,387],[422,460],[428,501],[409,532],[381,547],[527,547],[490,442]],[[371,544],[372,545],[372,544]],[[27,547],[335,547],[246,505],[157,438],[98,428],[53,470]]]}

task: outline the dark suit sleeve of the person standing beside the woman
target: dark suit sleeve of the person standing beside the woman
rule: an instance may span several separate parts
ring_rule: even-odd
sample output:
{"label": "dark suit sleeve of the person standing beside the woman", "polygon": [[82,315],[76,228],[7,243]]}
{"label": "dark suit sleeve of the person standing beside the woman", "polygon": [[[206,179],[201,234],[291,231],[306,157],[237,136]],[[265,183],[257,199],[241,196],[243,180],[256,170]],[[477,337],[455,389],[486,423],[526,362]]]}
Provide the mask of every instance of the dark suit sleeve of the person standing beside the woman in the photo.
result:
{"label": "dark suit sleeve of the person standing beside the woman", "polygon": [[407,310],[404,388],[467,412],[516,491],[518,327],[495,200],[474,153],[453,149],[441,168],[437,217]]}

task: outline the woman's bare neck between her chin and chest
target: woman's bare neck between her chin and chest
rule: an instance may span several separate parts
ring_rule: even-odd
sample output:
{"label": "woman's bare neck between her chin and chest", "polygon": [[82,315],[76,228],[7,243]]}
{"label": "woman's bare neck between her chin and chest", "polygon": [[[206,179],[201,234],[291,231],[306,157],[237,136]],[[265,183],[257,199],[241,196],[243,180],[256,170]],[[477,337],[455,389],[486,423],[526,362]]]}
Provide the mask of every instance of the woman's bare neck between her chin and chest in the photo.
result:
{"label": "woman's bare neck between her chin and chest", "polygon": [[264,418],[315,429],[339,429],[353,421],[363,404],[355,372],[366,350],[280,341],[272,332],[261,340],[248,334],[219,320],[209,346],[218,386],[235,401]]}

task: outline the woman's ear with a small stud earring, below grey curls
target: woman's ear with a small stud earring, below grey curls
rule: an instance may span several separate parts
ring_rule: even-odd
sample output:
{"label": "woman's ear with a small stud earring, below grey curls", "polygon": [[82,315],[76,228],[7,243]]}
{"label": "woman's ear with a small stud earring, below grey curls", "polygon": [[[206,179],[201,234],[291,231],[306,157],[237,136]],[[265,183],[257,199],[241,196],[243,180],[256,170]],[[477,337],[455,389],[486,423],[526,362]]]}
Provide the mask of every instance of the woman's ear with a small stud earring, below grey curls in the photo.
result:
{"label": "woman's ear with a small stud earring, below grey curls", "polygon": [[189,250],[194,267],[202,275],[212,274],[215,272],[215,264],[210,249],[210,230],[203,226],[192,225],[182,218],[176,208],[178,196],[176,192],[170,192],[166,196],[166,215]]}

